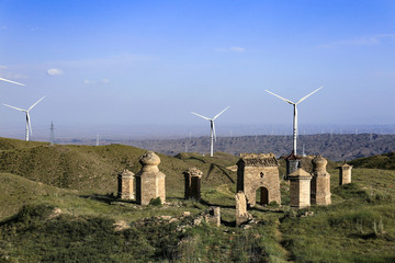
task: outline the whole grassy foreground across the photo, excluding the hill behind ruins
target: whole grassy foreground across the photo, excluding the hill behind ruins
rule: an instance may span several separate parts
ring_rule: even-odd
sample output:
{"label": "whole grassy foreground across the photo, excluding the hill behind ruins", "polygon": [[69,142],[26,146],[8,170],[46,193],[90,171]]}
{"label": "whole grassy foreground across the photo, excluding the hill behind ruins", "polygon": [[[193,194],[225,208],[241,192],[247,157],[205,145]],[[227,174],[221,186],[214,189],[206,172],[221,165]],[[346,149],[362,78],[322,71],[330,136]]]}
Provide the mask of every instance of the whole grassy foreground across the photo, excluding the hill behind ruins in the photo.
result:
{"label": "whole grassy foreground across the photo, excluding the hill behind ruins", "polygon": [[[332,205],[302,210],[290,209],[287,202],[279,208],[258,205],[249,210],[255,217],[250,229],[232,225],[234,184],[203,187],[204,204],[169,197],[168,205],[158,207],[44,186],[34,206],[0,222],[0,260],[393,262],[395,171],[354,169],[353,183],[346,186],[338,186],[336,170],[329,172]],[[37,184],[8,178],[16,182],[15,198],[22,185]],[[222,207],[222,227],[193,226],[207,204]],[[182,217],[183,211],[192,217]],[[119,225],[125,228],[117,230]]]}

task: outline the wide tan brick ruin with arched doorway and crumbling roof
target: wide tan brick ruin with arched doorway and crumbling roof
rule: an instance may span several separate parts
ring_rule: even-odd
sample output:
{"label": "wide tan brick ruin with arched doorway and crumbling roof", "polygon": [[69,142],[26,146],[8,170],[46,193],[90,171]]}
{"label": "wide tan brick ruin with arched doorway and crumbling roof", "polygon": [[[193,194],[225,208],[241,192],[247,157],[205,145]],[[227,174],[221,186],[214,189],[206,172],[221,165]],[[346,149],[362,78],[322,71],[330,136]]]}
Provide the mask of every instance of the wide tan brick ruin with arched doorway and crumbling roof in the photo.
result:
{"label": "wide tan brick ruin with arched doorway and crumbling roof", "polygon": [[248,205],[256,205],[258,190],[261,205],[281,205],[279,163],[273,153],[244,153],[237,162],[237,192],[245,193]]}

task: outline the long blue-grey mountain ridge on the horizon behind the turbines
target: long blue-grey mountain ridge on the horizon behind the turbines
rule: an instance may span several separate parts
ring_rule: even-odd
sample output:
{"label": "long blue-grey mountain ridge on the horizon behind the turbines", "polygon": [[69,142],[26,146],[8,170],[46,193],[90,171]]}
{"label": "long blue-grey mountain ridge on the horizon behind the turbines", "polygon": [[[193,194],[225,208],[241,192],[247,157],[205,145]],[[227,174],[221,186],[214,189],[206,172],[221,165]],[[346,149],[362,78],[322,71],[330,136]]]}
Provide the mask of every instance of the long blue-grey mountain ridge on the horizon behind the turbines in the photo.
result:
{"label": "long blue-grey mountain ridge on the horizon behind the turbines", "polygon": [[[179,152],[208,153],[210,150],[210,137],[112,142],[131,145],[168,156],[174,156]],[[280,157],[291,153],[292,136],[218,137],[214,149],[215,151],[232,155],[239,155],[241,152],[273,152]],[[352,160],[391,151],[395,151],[395,135],[300,135],[297,140],[298,155],[303,152],[306,155],[323,155],[334,161]]]}

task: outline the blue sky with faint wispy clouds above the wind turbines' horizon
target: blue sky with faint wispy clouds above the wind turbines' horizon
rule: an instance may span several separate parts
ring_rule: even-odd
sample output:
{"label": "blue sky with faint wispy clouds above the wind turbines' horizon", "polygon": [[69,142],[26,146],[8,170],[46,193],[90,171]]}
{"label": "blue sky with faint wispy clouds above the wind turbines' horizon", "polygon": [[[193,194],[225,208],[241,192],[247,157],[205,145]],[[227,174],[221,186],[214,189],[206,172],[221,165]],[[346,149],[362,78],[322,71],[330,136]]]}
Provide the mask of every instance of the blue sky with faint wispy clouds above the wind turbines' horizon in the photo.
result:
{"label": "blue sky with faint wispy clouds above the wind turbines' horizon", "polygon": [[[395,1],[0,0],[0,102],[33,132],[395,124]],[[93,127],[93,128],[92,128]],[[0,136],[23,138],[0,107]],[[125,132],[125,130],[123,130]],[[47,132],[45,132],[47,133]],[[94,132],[93,132],[94,133]],[[133,133],[133,130],[131,130]],[[226,132],[228,133],[228,132]],[[8,135],[7,134],[7,135]]]}

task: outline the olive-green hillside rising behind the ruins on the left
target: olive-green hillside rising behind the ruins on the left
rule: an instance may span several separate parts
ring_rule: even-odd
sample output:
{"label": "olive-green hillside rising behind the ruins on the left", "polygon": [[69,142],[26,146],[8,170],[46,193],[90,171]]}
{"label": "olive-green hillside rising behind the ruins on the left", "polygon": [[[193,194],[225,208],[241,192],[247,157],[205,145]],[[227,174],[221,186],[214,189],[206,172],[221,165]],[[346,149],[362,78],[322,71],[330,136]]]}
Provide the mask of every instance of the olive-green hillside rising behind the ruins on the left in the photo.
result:
{"label": "olive-green hillside rising behind the ruins on the left", "polygon": [[[137,173],[140,170],[138,157],[145,150],[131,146],[48,146],[34,142],[0,139],[0,172],[18,174],[48,185],[90,190],[95,193],[116,191],[116,176],[127,168]],[[218,185],[234,182],[235,173],[224,165],[233,165],[237,158],[219,153],[215,158],[180,159],[159,155],[159,169],[167,175],[168,190],[183,191],[183,174],[190,167],[203,171],[203,185]],[[219,164],[216,161],[219,160]],[[213,164],[215,162],[215,164]]]}

